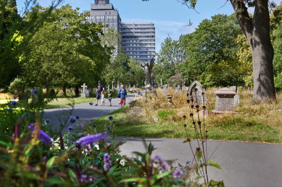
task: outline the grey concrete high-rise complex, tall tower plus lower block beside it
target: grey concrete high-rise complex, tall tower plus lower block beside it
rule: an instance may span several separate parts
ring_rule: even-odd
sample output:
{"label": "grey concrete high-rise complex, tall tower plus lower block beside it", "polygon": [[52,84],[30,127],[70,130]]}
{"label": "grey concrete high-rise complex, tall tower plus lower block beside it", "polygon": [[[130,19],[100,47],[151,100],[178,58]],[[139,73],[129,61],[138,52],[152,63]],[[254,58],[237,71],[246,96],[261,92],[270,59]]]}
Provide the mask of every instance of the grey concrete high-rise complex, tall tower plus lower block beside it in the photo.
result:
{"label": "grey concrete high-rise complex, tall tower plus lower block beside it", "polygon": [[[108,25],[116,29],[122,37],[122,53],[135,60],[150,62],[155,58],[155,24],[154,23],[121,23],[117,9],[114,9],[109,0],[95,0],[90,4],[90,16],[86,19],[90,23]],[[103,28],[106,33],[108,28]]]}

